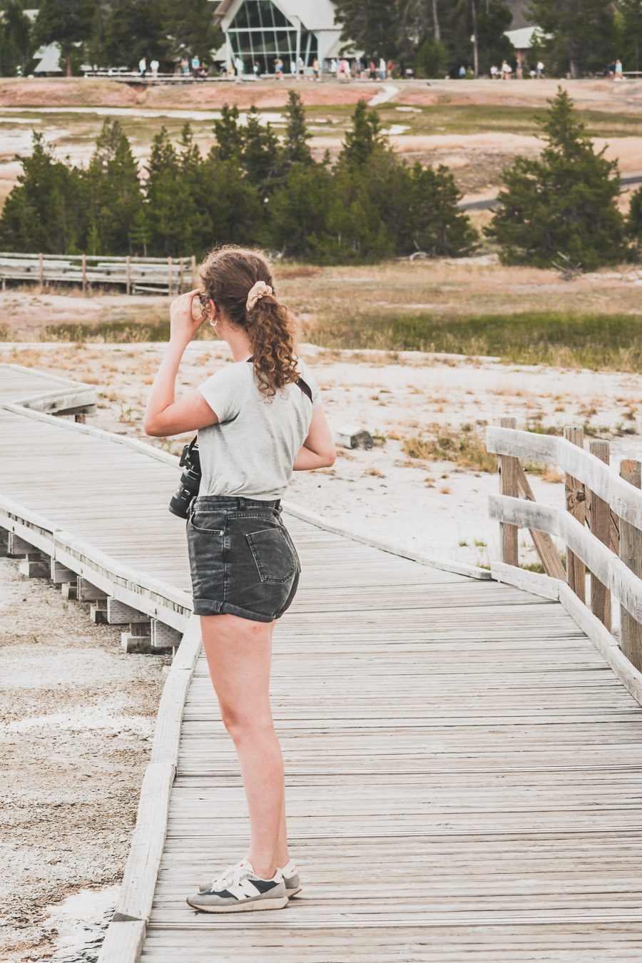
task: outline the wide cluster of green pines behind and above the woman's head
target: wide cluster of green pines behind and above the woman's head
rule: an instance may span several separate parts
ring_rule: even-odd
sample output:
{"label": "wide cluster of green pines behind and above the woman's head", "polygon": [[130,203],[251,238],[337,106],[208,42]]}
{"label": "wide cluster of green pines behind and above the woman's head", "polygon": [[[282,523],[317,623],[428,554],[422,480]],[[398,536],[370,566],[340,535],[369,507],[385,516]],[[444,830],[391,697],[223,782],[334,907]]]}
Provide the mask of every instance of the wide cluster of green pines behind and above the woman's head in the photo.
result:
{"label": "wide cluster of green pines behind and above the woman's head", "polygon": [[225,105],[206,156],[189,124],[177,144],[163,128],[142,171],[117,120],[105,120],[87,168],[57,160],[34,133],[2,211],[0,249],[202,256],[216,243],[256,244],[335,264],[475,246],[449,170],[405,164],[364,100],[333,165],[327,153],[314,160],[295,91],[286,119],[280,140],[256,109],[242,118]]}

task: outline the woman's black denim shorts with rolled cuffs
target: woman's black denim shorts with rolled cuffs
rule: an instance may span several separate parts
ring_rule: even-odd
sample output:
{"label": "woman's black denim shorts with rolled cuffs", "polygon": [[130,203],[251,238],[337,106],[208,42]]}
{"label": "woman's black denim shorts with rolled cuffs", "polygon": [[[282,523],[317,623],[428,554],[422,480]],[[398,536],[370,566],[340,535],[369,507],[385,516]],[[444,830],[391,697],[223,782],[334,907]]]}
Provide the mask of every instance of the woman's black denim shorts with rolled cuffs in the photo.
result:
{"label": "woman's black denim shorts with rolled cuffs", "polygon": [[271,622],[290,608],[301,565],[278,500],[198,495],[187,536],[196,615]]}

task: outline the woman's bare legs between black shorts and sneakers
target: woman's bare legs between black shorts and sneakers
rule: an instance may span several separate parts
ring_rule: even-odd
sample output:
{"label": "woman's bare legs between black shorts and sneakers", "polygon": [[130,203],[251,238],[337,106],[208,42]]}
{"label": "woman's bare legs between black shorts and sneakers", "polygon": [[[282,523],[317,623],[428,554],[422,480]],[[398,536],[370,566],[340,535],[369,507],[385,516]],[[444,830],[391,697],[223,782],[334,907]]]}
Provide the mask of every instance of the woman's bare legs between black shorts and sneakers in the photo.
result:
{"label": "woman's bare legs between black shorts and sneakers", "polygon": [[201,615],[203,647],[220,716],[236,746],[250,821],[254,872],[273,876],[288,862],[283,758],[270,708],[273,622]]}

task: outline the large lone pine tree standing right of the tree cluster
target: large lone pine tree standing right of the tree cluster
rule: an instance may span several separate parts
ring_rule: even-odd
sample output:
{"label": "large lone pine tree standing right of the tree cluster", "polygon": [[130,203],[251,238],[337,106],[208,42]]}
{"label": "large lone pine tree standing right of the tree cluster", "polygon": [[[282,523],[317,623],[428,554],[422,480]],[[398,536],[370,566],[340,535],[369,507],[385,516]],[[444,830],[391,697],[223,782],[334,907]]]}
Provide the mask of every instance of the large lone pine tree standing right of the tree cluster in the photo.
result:
{"label": "large lone pine tree standing right of the tree cluster", "polygon": [[585,270],[617,262],[626,252],[617,162],[595,152],[566,91],[549,102],[539,118],[547,146],[538,160],[518,157],[503,171],[486,234],[504,264],[549,267],[560,254]]}

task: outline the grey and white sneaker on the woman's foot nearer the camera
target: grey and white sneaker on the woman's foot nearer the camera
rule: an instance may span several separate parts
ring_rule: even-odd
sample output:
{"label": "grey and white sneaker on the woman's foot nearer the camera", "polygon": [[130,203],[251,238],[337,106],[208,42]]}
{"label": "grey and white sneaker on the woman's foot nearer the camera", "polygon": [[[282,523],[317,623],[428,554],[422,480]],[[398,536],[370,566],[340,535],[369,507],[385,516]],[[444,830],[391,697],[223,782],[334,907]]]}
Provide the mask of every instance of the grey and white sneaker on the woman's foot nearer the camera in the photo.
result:
{"label": "grey and white sneaker on the woman's foot nearer the camera", "polygon": [[238,913],[252,909],[282,909],[288,905],[283,875],[271,879],[257,876],[250,863],[228,866],[222,875],[187,898],[190,906],[204,913]]}

